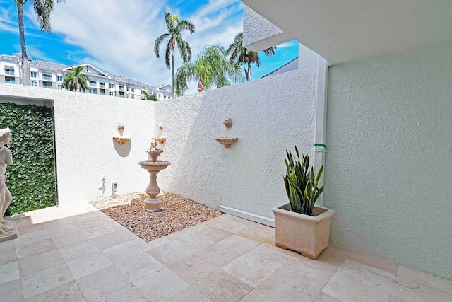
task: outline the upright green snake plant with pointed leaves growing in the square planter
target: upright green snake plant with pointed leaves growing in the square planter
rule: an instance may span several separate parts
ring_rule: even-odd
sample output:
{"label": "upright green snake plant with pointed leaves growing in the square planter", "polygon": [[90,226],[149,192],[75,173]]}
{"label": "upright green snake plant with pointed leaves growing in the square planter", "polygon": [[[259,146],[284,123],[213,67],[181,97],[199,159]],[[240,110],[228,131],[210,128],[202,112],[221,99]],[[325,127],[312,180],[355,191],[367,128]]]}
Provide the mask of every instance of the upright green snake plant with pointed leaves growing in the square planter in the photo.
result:
{"label": "upright green snake plant with pointed leaves growing in the square planter", "polygon": [[302,161],[300,161],[297,146],[295,146],[297,158],[292,156],[292,152],[287,150],[285,152],[287,158],[284,162],[287,174],[284,176],[284,184],[290,207],[292,211],[312,216],[314,204],[323,192],[323,186],[318,187],[323,165],[314,177],[314,168],[309,170],[308,155],[302,155]]}

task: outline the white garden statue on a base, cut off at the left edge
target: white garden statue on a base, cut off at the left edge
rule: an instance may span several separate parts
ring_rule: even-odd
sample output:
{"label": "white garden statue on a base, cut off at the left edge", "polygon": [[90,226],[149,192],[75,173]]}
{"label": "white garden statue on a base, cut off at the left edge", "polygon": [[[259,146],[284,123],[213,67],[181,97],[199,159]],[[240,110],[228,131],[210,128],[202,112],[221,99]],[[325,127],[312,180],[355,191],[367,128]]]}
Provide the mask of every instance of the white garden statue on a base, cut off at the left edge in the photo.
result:
{"label": "white garden statue on a base, cut off at the left edge", "polygon": [[6,167],[13,164],[13,156],[8,147],[11,141],[11,129],[0,129],[0,241],[17,238],[17,228],[13,221],[5,221],[3,216],[13,197],[6,187]]}

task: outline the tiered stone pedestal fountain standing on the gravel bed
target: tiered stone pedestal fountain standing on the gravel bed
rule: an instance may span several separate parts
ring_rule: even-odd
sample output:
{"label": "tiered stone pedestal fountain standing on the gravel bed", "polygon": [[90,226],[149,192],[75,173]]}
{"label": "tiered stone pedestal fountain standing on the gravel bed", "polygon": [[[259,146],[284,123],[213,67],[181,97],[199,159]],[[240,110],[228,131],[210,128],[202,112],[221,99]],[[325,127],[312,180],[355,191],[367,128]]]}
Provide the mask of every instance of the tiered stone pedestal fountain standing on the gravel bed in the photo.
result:
{"label": "tiered stone pedestal fountain standing on the gravel bed", "polygon": [[156,145],[157,143],[153,141],[151,148],[146,151],[151,159],[138,163],[138,165],[141,165],[141,168],[147,170],[150,174],[149,185],[146,187],[146,194],[148,194],[148,198],[145,199],[143,204],[143,207],[148,211],[162,211],[163,209],[162,202],[157,197],[160,193],[160,187],[157,185],[157,173],[159,173],[160,170],[166,169],[170,164],[169,161],[157,161],[157,157],[163,152],[163,150],[156,149]]}

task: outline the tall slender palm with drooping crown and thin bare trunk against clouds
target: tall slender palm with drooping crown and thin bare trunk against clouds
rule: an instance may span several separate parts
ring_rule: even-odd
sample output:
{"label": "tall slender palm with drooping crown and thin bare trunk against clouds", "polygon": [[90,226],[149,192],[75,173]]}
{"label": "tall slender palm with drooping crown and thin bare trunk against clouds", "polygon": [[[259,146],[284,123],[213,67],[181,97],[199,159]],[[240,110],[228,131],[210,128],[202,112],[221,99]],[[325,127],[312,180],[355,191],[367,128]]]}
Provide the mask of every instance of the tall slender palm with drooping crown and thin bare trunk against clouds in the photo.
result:
{"label": "tall slender palm with drooping crown and thin bare trunk against clouds", "polygon": [[[165,50],[165,65],[167,69],[171,67],[172,69],[172,94],[174,95],[174,46],[179,48],[181,53],[182,62],[191,61],[191,48],[189,43],[182,39],[182,31],[189,30],[192,34],[195,32],[195,25],[188,20],[181,20],[177,18],[176,15],[171,13],[165,13],[165,23],[167,24],[168,33],[164,33],[157,37],[154,44],[155,56],[160,57],[160,44],[163,41],[167,41],[167,46]],[[171,62],[169,62],[169,57],[171,56]]]}

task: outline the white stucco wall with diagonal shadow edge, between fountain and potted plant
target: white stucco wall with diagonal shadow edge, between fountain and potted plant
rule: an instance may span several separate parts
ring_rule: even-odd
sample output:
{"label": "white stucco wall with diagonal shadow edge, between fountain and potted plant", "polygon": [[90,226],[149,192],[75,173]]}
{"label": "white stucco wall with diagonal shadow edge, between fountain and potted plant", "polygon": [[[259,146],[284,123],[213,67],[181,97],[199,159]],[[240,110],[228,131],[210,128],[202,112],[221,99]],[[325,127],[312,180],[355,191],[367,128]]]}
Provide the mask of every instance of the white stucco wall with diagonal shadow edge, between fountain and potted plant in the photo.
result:
{"label": "white stucco wall with diagonal shadow edge, between fountain and potted plant", "polygon": [[[157,103],[155,123],[165,125],[157,134],[167,137],[160,157],[172,163],[160,187],[273,218],[270,209],[287,199],[285,149],[313,154],[315,99],[316,69],[308,68]],[[239,140],[225,149],[215,137]]]}

